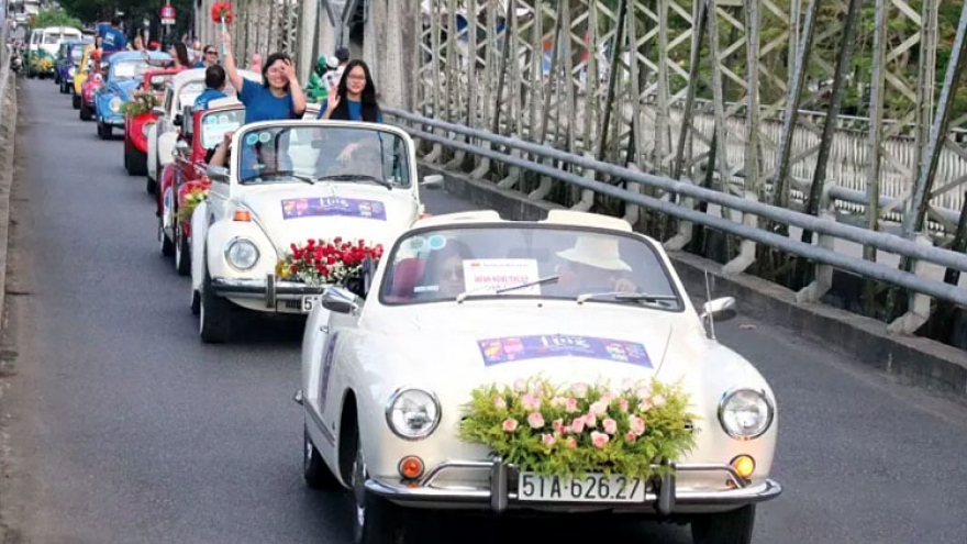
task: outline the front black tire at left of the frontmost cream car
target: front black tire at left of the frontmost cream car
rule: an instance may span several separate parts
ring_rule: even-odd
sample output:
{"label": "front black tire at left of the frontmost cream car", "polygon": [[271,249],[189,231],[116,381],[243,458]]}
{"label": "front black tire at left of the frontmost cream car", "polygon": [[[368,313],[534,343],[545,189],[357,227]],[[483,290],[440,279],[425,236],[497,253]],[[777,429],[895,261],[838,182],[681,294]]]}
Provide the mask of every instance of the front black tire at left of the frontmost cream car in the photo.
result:
{"label": "front black tire at left of the frontmost cream car", "polygon": [[[355,424],[355,423],[354,423]],[[363,447],[356,431],[356,460],[353,462],[353,499],[356,515],[353,517],[353,540],[356,544],[398,544],[405,537],[405,524],[400,507],[370,493],[364,482],[368,477]]]}

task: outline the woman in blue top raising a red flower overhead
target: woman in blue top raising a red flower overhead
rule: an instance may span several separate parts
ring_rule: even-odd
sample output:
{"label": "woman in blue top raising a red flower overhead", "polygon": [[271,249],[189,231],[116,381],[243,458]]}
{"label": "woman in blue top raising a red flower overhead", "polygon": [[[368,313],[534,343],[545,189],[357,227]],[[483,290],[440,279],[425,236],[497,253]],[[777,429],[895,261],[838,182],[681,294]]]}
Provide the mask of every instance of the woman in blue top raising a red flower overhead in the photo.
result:
{"label": "woman in blue top raising a red flower overhead", "polygon": [[232,37],[222,34],[225,44],[225,74],[232,87],[238,90],[238,100],[245,104],[245,124],[258,121],[301,119],[305,113],[305,95],[299,86],[296,67],[284,53],[273,53],[262,68],[263,84],[242,77],[232,55]]}

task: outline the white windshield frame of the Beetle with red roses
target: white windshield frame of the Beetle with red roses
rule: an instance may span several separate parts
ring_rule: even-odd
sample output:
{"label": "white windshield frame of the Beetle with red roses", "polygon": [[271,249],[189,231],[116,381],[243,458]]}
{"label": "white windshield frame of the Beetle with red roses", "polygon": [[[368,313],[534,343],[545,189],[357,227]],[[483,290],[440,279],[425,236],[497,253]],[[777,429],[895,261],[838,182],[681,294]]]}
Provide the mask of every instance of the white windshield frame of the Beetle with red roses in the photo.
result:
{"label": "white windshield frame of the Beetle with red roses", "polygon": [[[243,124],[237,131],[235,131],[234,136],[232,137],[232,158],[231,158],[231,185],[236,188],[255,188],[255,187],[264,187],[268,185],[275,185],[275,182],[263,182],[256,184],[251,182],[249,179],[242,179],[242,155],[243,153],[235,153],[234,149],[242,148],[243,138],[253,133],[263,130],[271,130],[271,129],[349,129],[356,130],[360,132],[376,132],[380,134],[387,134],[393,137],[399,138],[402,142],[407,156],[407,175],[409,176],[409,185],[408,186],[393,186],[393,191],[405,191],[407,193],[419,193],[420,186],[420,176],[419,170],[416,168],[416,157],[415,157],[415,145],[413,144],[410,135],[400,127],[384,124],[384,123],[365,123],[358,121],[329,121],[329,120],[304,120],[304,119],[288,119],[284,121],[259,121],[256,123]],[[293,184],[303,184],[302,181],[298,181],[298,179],[292,178]],[[354,184],[351,181],[349,184]],[[304,185],[304,184],[303,184]],[[374,187],[379,187],[374,185]],[[384,190],[386,190],[384,188]]]}

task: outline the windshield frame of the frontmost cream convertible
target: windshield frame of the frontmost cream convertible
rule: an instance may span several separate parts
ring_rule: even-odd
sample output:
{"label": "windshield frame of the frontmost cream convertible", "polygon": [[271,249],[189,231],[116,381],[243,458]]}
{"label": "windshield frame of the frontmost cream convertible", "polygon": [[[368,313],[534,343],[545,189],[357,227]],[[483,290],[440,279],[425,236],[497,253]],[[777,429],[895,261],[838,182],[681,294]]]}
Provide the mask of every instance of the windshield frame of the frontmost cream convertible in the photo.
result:
{"label": "windshield frame of the frontmost cream convertible", "polygon": [[[660,312],[667,313],[682,313],[689,307],[690,299],[688,298],[688,293],[683,288],[679,288],[679,282],[681,281],[677,274],[674,274],[674,270],[668,268],[668,264],[666,263],[665,254],[659,251],[658,245],[651,240],[649,237],[637,233],[637,232],[626,232],[626,231],[616,231],[613,229],[607,229],[601,226],[589,226],[589,225],[577,225],[569,223],[549,223],[549,222],[529,222],[529,221],[508,221],[508,222],[479,222],[479,223],[470,223],[470,224],[435,224],[435,225],[426,225],[420,226],[416,229],[409,230],[393,241],[392,247],[390,251],[384,254],[386,263],[380,263],[380,276],[379,281],[373,282],[373,288],[378,289],[377,300],[380,306],[389,307],[389,308],[405,308],[405,307],[419,307],[423,304],[457,304],[456,298],[447,298],[443,300],[418,300],[418,301],[407,301],[407,302],[392,302],[386,299],[385,287],[388,280],[388,274],[390,271],[390,259],[396,256],[397,252],[400,249],[400,245],[407,241],[412,238],[413,236],[419,236],[420,234],[427,232],[440,232],[440,231],[459,231],[459,230],[486,230],[486,229],[530,229],[530,230],[548,230],[548,231],[575,231],[575,232],[585,232],[589,234],[605,234],[616,237],[623,237],[627,240],[634,240],[637,243],[644,244],[648,247],[648,249],[654,254],[655,260],[658,263],[658,266],[662,268],[662,271],[665,274],[665,278],[668,280],[668,285],[671,288],[671,296],[676,298],[677,307],[676,308],[659,308],[657,306],[632,306],[627,302],[622,302],[619,300],[605,300],[605,299],[594,299],[593,301],[588,302],[597,302],[604,304],[618,304],[621,307],[630,307],[637,308],[643,310],[657,310]],[[370,288],[369,292],[371,295],[373,288]],[[371,297],[367,297],[369,299]],[[473,299],[467,299],[463,301],[463,304],[471,303],[471,300],[487,300],[492,301],[496,299],[501,300],[512,300],[512,301],[551,301],[551,302],[574,302],[577,306],[577,301],[575,298],[569,297],[546,297],[546,296],[534,296],[534,295],[513,295],[513,291],[504,292],[504,293],[480,293],[475,295]]]}

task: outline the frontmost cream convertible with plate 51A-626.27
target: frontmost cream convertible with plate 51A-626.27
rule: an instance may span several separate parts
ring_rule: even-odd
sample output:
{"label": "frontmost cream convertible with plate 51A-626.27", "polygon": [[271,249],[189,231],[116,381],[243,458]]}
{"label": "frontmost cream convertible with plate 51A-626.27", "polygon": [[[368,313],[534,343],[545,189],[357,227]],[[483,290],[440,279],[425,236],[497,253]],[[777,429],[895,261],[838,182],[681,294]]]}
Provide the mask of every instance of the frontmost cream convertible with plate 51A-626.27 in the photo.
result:
{"label": "frontmost cream convertible with plate 51A-626.27", "polygon": [[[503,221],[492,211],[423,219],[393,242],[366,285],[369,292],[329,288],[310,313],[294,397],[305,411],[305,479],[354,491],[357,542],[398,537],[404,509],[458,508],[627,513],[690,523],[696,543],[744,544],[756,503],[780,493],[769,479],[775,396],[703,323],[733,317],[734,300],[709,301],[699,313],[660,244],[626,222],[570,211],[541,222]],[[475,389],[519,390],[534,376],[678,382],[690,396],[678,433],[694,446],[674,459],[674,477],[586,479],[521,470],[460,436]],[[657,396],[648,399],[636,410],[659,406]],[[493,402],[503,410],[512,401]],[[622,406],[625,415],[615,419],[631,422]],[[551,426],[531,417],[520,425]],[[559,421],[540,440],[568,436],[573,447]],[[604,447],[645,432],[644,420],[636,435],[614,434],[614,420],[612,430],[602,421],[611,436],[577,440]],[[602,429],[602,421],[587,424]],[[519,432],[518,424],[505,420],[502,431]],[[583,423],[564,432],[580,434],[577,428]]]}

